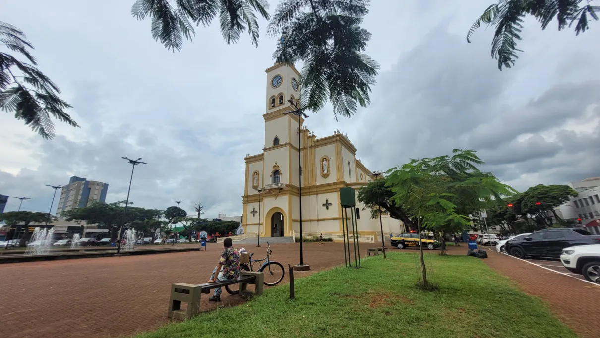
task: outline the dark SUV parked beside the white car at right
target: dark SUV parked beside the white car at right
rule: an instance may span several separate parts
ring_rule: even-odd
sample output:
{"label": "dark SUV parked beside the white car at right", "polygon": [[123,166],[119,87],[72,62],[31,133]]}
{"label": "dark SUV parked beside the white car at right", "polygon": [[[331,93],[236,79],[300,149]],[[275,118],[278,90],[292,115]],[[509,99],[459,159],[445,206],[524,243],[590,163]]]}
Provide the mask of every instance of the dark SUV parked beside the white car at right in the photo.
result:
{"label": "dark SUV parked beside the white car at right", "polygon": [[545,229],[506,243],[506,252],[517,257],[560,257],[562,249],[576,245],[600,244],[600,236],[580,228]]}

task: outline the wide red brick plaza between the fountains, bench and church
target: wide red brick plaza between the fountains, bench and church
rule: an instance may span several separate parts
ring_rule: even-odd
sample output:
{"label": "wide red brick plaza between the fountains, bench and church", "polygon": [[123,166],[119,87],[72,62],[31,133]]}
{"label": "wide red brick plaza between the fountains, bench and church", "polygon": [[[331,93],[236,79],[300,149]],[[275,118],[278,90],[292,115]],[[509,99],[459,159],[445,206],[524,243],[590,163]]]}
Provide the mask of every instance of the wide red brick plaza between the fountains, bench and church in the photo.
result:
{"label": "wide red brick plaza between the fountains, bench and church", "polygon": [[[170,285],[208,280],[222,250],[206,252],[69,259],[0,265],[0,334],[3,338],[116,337],[158,328],[168,322]],[[262,258],[266,245],[256,248]],[[286,267],[298,263],[298,244],[271,246],[272,259]],[[361,248],[362,252],[366,249]],[[304,243],[304,261],[311,271],[343,264],[340,243]],[[239,303],[223,292],[221,304]],[[217,305],[202,297],[200,307]]]}

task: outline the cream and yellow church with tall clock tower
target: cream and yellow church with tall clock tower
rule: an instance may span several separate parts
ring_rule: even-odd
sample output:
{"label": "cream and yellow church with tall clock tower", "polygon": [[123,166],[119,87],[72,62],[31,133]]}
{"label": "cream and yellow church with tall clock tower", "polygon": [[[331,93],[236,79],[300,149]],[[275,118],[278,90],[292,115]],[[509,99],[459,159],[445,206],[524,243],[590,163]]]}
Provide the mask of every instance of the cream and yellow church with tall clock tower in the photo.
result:
{"label": "cream and yellow church with tall clock tower", "polygon": [[[265,146],[262,152],[244,158],[242,227],[246,234],[260,231],[260,237],[298,236],[298,186],[302,188],[304,236],[341,234],[340,188],[358,191],[374,180],[373,173],[356,159],[356,148],[346,135],[335,131],[333,135],[317,138],[305,128],[304,118],[289,114],[295,108],[288,100],[298,102],[299,76],[293,66],[284,64],[266,70]],[[262,189],[260,194],[258,189]],[[370,210],[364,208],[364,204],[356,201],[358,234],[371,235],[375,242],[380,242],[379,219],[371,219]],[[383,215],[382,221],[385,237],[404,232],[400,220]]]}

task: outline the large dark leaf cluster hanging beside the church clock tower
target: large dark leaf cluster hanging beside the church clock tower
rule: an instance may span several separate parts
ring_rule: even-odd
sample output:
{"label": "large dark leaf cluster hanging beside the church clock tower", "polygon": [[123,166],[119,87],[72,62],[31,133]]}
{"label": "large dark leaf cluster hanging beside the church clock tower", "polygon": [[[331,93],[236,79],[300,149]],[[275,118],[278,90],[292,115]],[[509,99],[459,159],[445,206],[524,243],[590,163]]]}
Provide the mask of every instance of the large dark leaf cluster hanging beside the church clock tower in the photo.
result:
{"label": "large dark leaf cluster hanging beside the church clock tower", "polygon": [[379,65],[364,53],[371,34],[362,29],[368,1],[284,0],[269,23],[282,35],[276,62],[303,61],[302,107],[316,111],[329,99],[334,114],[350,117],[370,103]]}

